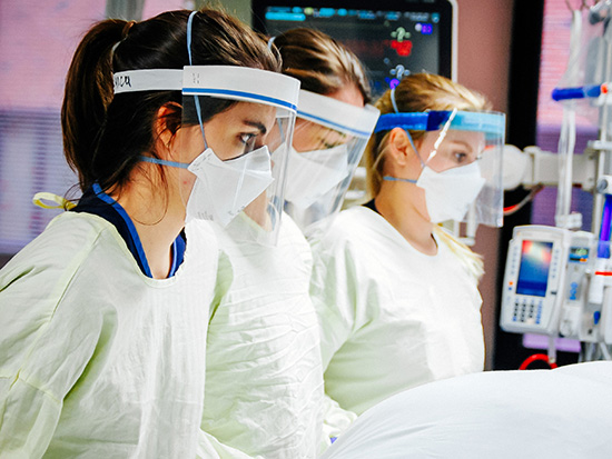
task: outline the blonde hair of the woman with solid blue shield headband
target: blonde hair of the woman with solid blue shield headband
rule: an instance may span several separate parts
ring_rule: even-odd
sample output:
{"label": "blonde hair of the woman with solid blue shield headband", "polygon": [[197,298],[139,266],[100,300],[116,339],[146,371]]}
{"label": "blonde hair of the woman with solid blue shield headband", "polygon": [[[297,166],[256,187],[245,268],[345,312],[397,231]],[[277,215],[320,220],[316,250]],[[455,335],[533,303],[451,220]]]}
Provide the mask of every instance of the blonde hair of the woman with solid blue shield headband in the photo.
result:
{"label": "blonde hair of the woman with solid blue shield headband", "polygon": [[[395,102],[399,112],[422,112],[427,110],[490,110],[484,96],[472,91],[447,78],[431,73],[413,73],[405,77],[395,88]],[[387,90],[375,103],[381,114],[395,113]],[[367,189],[374,198],[381,191],[385,158],[383,150],[388,142],[388,132],[381,131],[369,138],[365,150]],[[423,131],[409,131],[413,140],[423,137]]]}

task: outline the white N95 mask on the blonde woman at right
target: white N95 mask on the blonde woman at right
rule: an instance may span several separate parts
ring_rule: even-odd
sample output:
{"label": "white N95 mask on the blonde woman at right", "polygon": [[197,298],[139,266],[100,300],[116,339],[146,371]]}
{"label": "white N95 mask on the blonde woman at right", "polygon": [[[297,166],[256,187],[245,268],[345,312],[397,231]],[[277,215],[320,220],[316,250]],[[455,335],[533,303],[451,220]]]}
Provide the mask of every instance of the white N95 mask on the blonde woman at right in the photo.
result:
{"label": "white N95 mask on the blonde woman at right", "polygon": [[425,190],[425,203],[433,223],[461,221],[483,188],[478,162],[436,172],[424,166],[416,186]]}

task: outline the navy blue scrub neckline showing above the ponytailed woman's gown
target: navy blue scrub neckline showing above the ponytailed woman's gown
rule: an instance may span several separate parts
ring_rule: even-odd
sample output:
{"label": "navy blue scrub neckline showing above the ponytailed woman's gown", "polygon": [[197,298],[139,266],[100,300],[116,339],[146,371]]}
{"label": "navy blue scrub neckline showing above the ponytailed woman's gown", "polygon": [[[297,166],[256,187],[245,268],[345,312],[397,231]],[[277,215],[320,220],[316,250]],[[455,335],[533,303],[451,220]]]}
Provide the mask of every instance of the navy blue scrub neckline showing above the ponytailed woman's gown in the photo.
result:
{"label": "navy blue scrub neckline showing above the ponytailed woman's gown", "polygon": [[[112,223],[115,228],[117,228],[119,235],[121,235],[121,238],[126,241],[129,251],[136,259],[142,273],[152,278],[145,250],[142,249],[142,243],[140,242],[134,222],[119,202],[105,193],[98,183],[95,183],[83,193],[77,207],[71,211],[93,213]],[[178,267],[182,263],[185,247],[185,236],[180,233],[172,243],[172,266],[168,275],[169,278],[176,273]]]}

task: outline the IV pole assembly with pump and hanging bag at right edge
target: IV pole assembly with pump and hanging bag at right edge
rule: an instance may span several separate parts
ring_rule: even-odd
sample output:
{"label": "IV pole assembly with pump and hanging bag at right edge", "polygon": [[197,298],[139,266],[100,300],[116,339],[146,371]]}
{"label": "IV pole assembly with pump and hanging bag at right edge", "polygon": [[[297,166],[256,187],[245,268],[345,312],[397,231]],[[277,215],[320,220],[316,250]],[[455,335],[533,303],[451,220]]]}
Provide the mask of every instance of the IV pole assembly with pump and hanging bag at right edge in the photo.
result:
{"label": "IV pole assembly with pump and hanging bag at right edge", "polygon": [[[580,341],[582,360],[612,360],[612,68],[601,64],[612,56],[612,1],[570,9],[571,58],[552,93],[563,109],[557,150],[504,152],[505,189],[533,187],[533,197],[543,186],[557,188],[555,227],[514,229],[500,317],[505,331],[549,336],[553,362],[557,337]],[[575,154],[579,117],[598,132],[582,154]],[[578,231],[576,186],[593,194],[591,232]]]}

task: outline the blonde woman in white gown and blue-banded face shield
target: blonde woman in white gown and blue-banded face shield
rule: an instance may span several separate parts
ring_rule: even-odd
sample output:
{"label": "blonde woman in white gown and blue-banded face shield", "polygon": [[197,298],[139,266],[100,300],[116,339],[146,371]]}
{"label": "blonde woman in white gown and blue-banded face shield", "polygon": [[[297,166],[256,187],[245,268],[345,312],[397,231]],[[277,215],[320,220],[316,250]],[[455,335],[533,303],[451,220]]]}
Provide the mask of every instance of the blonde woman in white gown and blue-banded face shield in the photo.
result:
{"label": "blonde woman in white gown and blue-banded face shield", "polygon": [[[412,74],[376,102],[372,200],[316,247],[325,388],[362,413],[402,390],[481,371],[482,261],[438,223],[501,223],[504,116],[461,84]],[[468,210],[472,209],[470,212]]]}

